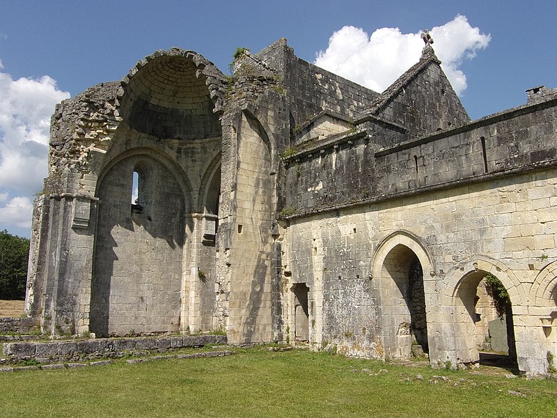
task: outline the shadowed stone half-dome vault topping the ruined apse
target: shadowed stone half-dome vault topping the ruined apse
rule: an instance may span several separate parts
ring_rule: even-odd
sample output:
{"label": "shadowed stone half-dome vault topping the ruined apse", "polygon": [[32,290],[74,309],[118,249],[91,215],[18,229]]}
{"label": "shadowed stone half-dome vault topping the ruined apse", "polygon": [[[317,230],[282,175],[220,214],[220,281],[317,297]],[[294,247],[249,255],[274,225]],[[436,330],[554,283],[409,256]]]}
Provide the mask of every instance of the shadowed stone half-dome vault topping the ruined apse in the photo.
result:
{"label": "shadowed stone half-dome vault topping the ruined apse", "polygon": [[162,139],[219,137],[224,76],[200,54],[179,48],[139,61],[121,82],[119,113]]}

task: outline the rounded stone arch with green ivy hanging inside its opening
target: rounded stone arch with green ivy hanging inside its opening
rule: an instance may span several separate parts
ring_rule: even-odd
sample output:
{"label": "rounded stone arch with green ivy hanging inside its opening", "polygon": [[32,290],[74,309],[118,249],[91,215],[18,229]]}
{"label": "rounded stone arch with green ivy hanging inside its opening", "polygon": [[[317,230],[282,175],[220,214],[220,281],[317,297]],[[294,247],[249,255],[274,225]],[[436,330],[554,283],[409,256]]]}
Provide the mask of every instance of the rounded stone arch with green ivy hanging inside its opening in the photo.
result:
{"label": "rounded stone arch with green ivy hanging inside its opening", "polygon": [[[493,260],[485,256],[478,256],[472,262],[466,265],[460,265],[455,268],[452,274],[448,274],[446,292],[444,295],[444,304],[452,307],[452,314],[447,316],[447,321],[452,318],[452,333],[454,336],[453,346],[446,346],[446,361],[450,362],[453,367],[457,364],[468,364],[478,362],[480,355],[476,341],[476,310],[475,298],[478,284],[487,276],[487,274],[495,276],[507,290],[512,310],[521,310],[524,306],[524,291],[519,281],[503,263]],[[517,327],[517,317],[511,314],[514,326],[511,328],[514,333],[515,341],[523,341],[524,332],[521,327]],[[509,338],[512,341],[512,336]],[[514,344],[514,341],[510,342]],[[517,356],[520,357],[519,344],[515,344]],[[512,350],[512,346],[509,348]],[[520,360],[519,360],[520,362]]]}

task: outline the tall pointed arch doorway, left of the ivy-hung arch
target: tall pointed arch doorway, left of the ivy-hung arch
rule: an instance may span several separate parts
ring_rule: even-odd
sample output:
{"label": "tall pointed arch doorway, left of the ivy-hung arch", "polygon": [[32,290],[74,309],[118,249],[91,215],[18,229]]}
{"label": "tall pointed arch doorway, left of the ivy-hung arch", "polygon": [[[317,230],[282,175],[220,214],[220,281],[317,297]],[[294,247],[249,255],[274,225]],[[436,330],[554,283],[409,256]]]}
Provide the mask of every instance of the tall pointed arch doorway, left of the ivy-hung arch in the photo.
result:
{"label": "tall pointed arch doorway, left of the ivy-hung arch", "polygon": [[[372,266],[382,306],[384,357],[410,357],[413,344],[427,351],[427,306],[434,289],[426,279],[432,263],[425,247],[415,235],[395,232],[379,244]],[[425,274],[415,274],[418,269]]]}

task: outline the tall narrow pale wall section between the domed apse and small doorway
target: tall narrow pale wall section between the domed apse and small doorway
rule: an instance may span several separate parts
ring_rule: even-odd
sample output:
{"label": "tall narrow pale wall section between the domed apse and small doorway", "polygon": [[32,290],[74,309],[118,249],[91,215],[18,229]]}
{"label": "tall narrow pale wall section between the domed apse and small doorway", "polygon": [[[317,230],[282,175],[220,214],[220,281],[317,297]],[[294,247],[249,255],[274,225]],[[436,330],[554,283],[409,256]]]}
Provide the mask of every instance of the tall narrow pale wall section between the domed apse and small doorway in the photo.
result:
{"label": "tall narrow pale wall section between the domed apse and small doorway", "polygon": [[269,341],[271,318],[272,187],[269,140],[258,122],[242,113],[238,132],[235,190],[235,239],[228,262],[230,339]]}

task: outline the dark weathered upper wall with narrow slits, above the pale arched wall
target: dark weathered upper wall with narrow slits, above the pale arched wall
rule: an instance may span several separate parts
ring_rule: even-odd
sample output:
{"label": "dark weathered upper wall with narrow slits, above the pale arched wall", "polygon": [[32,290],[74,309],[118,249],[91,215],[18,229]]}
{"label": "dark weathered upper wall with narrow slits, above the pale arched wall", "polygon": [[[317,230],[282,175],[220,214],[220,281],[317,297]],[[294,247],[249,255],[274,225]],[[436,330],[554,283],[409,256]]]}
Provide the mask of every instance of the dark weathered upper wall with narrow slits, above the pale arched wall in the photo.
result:
{"label": "dark weathered upper wall with narrow slits, above the pale arched wall", "polygon": [[340,144],[317,144],[286,159],[285,206],[322,210],[554,164],[557,148],[547,144],[556,131],[557,110],[544,103],[384,150],[347,135]]}

